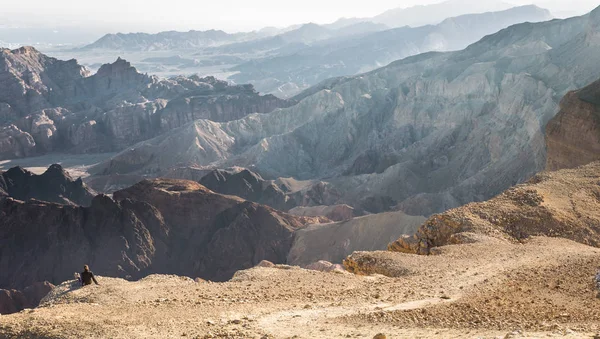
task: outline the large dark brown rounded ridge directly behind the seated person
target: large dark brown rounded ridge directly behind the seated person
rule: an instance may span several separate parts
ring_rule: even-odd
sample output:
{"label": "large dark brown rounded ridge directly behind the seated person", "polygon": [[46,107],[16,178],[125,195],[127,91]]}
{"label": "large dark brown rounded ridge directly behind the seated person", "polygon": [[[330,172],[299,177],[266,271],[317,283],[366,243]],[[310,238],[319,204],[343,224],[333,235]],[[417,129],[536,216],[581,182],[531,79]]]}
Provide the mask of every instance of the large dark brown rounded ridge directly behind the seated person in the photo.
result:
{"label": "large dark brown rounded ridge directly behind the seated person", "polygon": [[0,201],[0,288],[70,279],[89,264],[121,278],[151,273],[226,280],[261,260],[285,263],[294,217],[192,181],[142,181],[89,207]]}

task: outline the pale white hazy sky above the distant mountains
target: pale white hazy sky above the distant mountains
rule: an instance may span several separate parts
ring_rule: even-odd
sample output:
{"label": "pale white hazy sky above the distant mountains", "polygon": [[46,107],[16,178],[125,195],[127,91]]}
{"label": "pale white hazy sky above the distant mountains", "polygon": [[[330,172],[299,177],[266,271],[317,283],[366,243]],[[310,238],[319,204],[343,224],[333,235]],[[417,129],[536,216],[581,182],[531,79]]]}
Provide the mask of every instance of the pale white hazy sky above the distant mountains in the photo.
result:
{"label": "pale white hazy sky above the distant mountains", "polygon": [[[493,0],[481,0],[493,1]],[[374,16],[387,9],[441,0],[0,0],[0,19],[12,26],[82,25],[109,31],[223,29],[328,23],[340,17]],[[583,13],[597,0],[505,0],[536,3],[551,11]],[[1,25],[1,23],[0,23]]]}

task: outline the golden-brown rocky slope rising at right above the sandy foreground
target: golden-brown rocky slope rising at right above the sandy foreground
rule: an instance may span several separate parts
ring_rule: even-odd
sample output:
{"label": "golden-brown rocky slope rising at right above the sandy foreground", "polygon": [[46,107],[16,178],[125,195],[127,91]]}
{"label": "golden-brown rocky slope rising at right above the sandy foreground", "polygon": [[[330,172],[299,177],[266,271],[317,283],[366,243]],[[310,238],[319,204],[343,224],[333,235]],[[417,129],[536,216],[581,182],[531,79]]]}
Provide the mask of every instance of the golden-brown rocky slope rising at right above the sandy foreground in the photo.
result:
{"label": "golden-brown rocky slope rising at right above the sandy foreground", "polygon": [[600,162],[542,172],[485,202],[436,214],[414,236],[391,243],[390,251],[429,254],[435,247],[484,237],[523,242],[533,236],[562,237],[600,247]]}

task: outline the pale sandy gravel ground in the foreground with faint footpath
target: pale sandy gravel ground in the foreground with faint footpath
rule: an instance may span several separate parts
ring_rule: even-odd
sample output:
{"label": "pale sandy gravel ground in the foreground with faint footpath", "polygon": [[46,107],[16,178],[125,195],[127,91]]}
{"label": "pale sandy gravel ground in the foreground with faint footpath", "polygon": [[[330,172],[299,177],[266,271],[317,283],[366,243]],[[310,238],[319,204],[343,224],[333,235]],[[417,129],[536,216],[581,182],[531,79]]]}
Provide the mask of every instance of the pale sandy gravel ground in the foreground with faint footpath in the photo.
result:
{"label": "pale sandy gravel ground in the foreground with faint footpath", "polygon": [[[391,276],[257,267],[229,282],[100,277],[0,317],[0,338],[591,338],[600,249],[564,239],[361,252]],[[368,260],[367,260],[368,259]],[[358,259],[357,259],[358,260]]]}

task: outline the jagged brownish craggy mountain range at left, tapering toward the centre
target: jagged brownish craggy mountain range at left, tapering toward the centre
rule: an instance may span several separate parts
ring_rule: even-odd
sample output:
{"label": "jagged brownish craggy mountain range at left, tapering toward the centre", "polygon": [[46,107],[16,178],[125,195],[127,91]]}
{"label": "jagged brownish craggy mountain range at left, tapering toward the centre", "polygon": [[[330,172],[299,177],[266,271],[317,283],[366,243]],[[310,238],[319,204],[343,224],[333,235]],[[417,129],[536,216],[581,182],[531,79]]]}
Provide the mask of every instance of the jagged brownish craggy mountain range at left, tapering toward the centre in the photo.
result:
{"label": "jagged brownish craggy mountain range at left, tapering toward the centre", "polygon": [[161,80],[123,59],[96,74],[32,47],[0,50],[0,157],[120,150],[199,118],[239,119],[290,103],[213,77]]}

